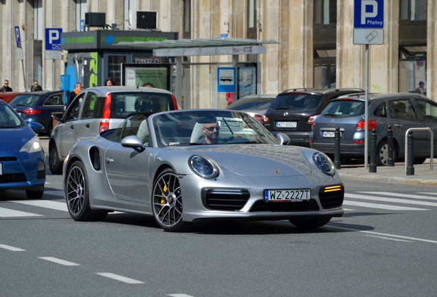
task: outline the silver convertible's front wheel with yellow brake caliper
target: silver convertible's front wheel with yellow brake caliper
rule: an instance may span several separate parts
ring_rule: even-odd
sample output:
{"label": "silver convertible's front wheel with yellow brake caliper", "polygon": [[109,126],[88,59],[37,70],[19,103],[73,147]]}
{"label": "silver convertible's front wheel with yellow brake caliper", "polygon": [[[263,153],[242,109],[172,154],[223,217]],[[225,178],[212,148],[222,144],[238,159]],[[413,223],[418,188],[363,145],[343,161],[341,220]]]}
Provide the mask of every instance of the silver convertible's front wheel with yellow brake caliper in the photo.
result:
{"label": "silver convertible's front wheel with yellow brake caliper", "polygon": [[159,227],[169,232],[182,232],[191,223],[182,219],[183,204],[179,178],[170,168],[164,170],[153,183],[153,217]]}

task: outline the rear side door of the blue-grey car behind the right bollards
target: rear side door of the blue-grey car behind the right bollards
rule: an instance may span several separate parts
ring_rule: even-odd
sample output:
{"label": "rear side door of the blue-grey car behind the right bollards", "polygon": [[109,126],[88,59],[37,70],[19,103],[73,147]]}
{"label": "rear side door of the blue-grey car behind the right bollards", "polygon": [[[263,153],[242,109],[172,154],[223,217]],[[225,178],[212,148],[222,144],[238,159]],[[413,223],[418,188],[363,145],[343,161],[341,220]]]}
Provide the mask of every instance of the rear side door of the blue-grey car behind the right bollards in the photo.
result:
{"label": "rear side door of the blue-grey car behind the right bollards", "polygon": [[[405,155],[405,133],[410,128],[423,128],[418,113],[410,98],[397,98],[389,100],[390,124],[394,136],[399,140],[399,155]],[[425,131],[413,131],[414,155],[423,155],[427,143]]]}

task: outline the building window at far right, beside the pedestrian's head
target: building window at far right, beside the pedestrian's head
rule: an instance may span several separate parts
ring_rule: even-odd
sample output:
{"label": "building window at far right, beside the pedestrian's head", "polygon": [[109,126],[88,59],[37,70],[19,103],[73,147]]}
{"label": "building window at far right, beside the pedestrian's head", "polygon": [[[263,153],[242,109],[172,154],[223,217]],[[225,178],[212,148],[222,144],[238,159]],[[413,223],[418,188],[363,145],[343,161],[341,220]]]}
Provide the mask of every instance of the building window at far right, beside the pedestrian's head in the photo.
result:
{"label": "building window at far right, beside the pedestrian's head", "polygon": [[405,46],[399,48],[399,92],[414,92],[420,81],[425,82],[426,95],[427,47]]}

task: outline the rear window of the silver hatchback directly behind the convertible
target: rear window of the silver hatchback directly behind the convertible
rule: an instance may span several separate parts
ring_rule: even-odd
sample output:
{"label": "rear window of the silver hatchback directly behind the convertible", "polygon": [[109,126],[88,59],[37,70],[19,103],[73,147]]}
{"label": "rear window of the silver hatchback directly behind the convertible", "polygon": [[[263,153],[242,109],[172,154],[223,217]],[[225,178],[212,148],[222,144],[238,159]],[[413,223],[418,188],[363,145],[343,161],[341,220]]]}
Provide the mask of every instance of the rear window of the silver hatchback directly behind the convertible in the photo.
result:
{"label": "rear window of the silver hatchback directly behind the convertible", "polygon": [[171,94],[128,92],[111,94],[111,118],[126,118],[134,112],[174,110]]}

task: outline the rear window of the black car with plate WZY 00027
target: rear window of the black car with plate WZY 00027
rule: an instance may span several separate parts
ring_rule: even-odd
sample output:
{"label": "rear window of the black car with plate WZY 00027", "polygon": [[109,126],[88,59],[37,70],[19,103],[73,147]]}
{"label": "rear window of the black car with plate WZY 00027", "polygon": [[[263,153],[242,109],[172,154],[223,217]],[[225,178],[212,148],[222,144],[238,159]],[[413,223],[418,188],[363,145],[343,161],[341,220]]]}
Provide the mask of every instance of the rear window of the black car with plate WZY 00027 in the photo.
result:
{"label": "rear window of the black car with plate WZY 00027", "polygon": [[270,105],[270,109],[291,109],[305,111],[317,109],[322,102],[322,96],[310,94],[278,95]]}

